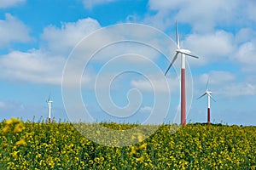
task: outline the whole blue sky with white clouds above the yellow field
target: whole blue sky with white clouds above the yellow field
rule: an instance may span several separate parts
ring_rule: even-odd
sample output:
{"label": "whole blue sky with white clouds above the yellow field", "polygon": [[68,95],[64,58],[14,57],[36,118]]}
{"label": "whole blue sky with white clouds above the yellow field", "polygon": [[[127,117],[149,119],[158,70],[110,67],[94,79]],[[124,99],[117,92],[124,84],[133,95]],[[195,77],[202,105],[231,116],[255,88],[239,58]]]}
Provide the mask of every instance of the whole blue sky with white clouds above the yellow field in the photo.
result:
{"label": "whole blue sky with white clouds above the yellow field", "polygon": [[254,0],[1,0],[0,119],[46,119],[50,94],[57,122],[178,122],[179,59],[164,77],[177,20],[181,46],[200,56],[187,57],[187,122],[207,122],[207,97],[197,98],[209,78],[211,121],[256,125],[255,7]]}

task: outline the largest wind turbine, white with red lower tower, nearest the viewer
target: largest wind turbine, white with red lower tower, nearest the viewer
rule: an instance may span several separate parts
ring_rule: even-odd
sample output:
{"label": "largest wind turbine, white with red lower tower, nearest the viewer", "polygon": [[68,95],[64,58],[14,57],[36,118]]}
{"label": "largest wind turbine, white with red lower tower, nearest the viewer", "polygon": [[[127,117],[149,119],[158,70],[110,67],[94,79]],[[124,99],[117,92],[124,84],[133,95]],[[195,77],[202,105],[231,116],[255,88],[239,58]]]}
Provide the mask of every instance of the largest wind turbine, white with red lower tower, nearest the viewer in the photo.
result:
{"label": "largest wind turbine, white with red lower tower, nearest the viewer", "polygon": [[[167,72],[172,67],[173,63],[177,59],[178,54],[181,54],[181,124],[184,126],[186,125],[186,84],[185,84],[185,65],[186,65],[186,55],[190,57],[194,57],[198,59],[197,56],[191,54],[188,49],[180,48],[179,46],[179,37],[178,37],[178,30],[177,30],[177,21],[176,21],[176,41],[177,41],[177,49],[174,58],[172,59],[171,64],[169,65]],[[166,76],[165,74],[165,76]]]}

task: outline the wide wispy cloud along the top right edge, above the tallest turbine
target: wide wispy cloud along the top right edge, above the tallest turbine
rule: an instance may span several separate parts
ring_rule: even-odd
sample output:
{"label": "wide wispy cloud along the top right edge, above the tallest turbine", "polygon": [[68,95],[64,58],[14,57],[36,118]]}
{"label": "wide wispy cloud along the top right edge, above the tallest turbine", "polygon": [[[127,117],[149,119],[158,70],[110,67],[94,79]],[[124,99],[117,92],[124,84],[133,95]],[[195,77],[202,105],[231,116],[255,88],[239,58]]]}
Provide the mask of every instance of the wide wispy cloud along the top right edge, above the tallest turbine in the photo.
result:
{"label": "wide wispy cloud along the top right edge, above the tallest turbine", "polygon": [[[148,7],[149,10],[154,11],[153,14],[148,14],[148,19],[158,17],[157,22],[162,22],[172,16],[171,23],[174,23],[174,20],[188,23],[197,33],[211,32],[219,24],[241,26],[245,20],[254,21],[256,19],[253,9],[255,2],[253,1],[150,0]],[[166,28],[171,24],[167,23]]]}

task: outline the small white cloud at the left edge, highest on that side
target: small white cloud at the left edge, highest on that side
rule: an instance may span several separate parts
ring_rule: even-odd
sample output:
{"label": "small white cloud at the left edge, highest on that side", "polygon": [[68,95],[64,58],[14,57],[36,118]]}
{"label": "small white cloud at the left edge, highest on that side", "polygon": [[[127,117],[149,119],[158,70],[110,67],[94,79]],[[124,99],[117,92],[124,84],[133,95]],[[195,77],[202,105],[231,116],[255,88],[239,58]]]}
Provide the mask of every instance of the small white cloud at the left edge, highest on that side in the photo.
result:
{"label": "small white cloud at the left edge, highest on that side", "polygon": [[0,20],[0,48],[5,48],[11,42],[29,42],[29,28],[11,14],[5,14],[5,20]]}

